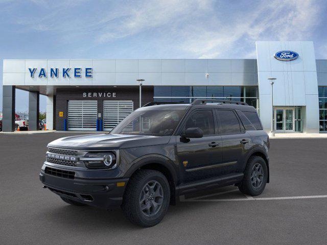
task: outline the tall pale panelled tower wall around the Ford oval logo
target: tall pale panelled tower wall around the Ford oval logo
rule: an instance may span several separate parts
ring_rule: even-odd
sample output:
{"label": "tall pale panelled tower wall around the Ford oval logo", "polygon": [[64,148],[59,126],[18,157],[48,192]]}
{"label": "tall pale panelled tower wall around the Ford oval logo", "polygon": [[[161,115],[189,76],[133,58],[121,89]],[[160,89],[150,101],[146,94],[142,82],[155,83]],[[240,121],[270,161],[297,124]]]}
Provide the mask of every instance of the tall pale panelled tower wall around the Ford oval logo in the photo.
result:
{"label": "tall pale panelled tower wall around the Ford oval logo", "polygon": [[[274,58],[278,51],[298,53],[293,61]],[[302,106],[305,121],[303,131],[319,132],[319,105],[316,60],[313,42],[309,41],[264,41],[256,42],[258,62],[260,117],[264,129],[271,124],[271,85],[268,78],[274,77],[274,106]]]}

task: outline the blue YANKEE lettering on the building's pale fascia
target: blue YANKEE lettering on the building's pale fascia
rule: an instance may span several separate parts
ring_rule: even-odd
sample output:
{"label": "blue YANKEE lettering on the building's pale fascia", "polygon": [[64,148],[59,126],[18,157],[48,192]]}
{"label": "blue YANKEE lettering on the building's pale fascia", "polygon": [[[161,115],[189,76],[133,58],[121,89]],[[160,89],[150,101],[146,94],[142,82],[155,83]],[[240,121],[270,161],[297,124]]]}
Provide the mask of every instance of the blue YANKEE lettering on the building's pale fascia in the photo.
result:
{"label": "blue YANKEE lettering on the building's pale fascia", "polygon": [[[29,68],[30,76],[31,78],[34,78],[34,76],[38,76],[39,78],[58,78],[59,77],[59,68],[50,68],[50,74],[46,72],[46,68]],[[69,74],[69,71],[71,71],[71,74]],[[84,72],[85,71],[85,72]],[[63,78],[81,78],[82,77],[82,68],[75,67],[75,68],[62,68],[60,69],[61,75]],[[91,78],[92,77],[92,68],[85,68],[83,69],[85,78]]]}

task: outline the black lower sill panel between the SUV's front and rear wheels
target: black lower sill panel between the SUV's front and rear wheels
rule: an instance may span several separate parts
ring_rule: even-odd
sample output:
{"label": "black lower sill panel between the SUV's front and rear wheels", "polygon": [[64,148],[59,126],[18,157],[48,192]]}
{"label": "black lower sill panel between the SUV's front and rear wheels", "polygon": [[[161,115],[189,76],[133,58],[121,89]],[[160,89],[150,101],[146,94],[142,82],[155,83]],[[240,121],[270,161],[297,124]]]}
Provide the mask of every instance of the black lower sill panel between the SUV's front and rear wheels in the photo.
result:
{"label": "black lower sill panel between the SUV's front and rear wheels", "polygon": [[176,186],[176,193],[182,195],[185,193],[195,192],[205,188],[221,187],[236,184],[242,181],[244,174],[226,175],[219,178],[211,178],[200,181],[194,181]]}

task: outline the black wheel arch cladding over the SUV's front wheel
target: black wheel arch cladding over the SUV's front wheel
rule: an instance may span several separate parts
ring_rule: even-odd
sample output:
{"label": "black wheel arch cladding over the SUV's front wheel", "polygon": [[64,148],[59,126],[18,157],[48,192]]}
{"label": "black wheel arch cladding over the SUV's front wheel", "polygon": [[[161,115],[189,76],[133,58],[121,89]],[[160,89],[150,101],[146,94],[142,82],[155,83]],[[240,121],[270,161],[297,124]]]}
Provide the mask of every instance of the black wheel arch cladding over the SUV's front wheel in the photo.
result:
{"label": "black wheel arch cladding over the SUV's front wheel", "polygon": [[157,156],[147,157],[133,163],[132,167],[127,171],[126,175],[131,177],[138,169],[152,169],[162,173],[167,178],[170,186],[170,204],[176,204],[176,183],[178,181],[178,177],[171,160]]}

